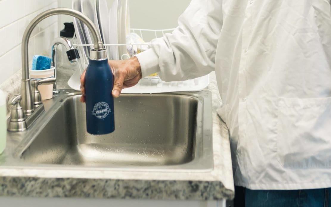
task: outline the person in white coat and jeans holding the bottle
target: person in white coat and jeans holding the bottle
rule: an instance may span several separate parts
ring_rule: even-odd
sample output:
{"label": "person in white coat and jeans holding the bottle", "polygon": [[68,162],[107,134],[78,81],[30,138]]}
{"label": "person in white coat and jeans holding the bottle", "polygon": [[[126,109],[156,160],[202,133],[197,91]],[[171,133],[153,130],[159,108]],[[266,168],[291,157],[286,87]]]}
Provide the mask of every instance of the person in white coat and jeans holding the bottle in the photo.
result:
{"label": "person in white coat and jeans holding the bottle", "polygon": [[215,70],[242,205],[331,206],[330,1],[192,0],[178,24],[109,61],[113,96],[155,72],[180,81]]}

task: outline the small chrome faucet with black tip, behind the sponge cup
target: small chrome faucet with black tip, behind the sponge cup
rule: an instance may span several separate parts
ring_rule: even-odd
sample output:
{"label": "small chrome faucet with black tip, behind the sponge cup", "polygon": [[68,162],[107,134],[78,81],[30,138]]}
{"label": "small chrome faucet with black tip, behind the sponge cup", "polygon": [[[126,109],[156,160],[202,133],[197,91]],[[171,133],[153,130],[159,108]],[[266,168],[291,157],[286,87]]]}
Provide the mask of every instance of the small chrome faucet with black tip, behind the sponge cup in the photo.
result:
{"label": "small chrome faucet with black tip, behind the sponge cup", "polygon": [[[59,45],[63,45],[66,48],[68,60],[70,62],[77,62],[79,60],[78,50],[71,45],[70,40],[65,37],[58,37],[52,43],[52,66],[55,67],[54,78],[56,79],[57,60],[56,49]],[[58,94],[60,90],[56,88],[56,82],[53,84],[53,94]]]}

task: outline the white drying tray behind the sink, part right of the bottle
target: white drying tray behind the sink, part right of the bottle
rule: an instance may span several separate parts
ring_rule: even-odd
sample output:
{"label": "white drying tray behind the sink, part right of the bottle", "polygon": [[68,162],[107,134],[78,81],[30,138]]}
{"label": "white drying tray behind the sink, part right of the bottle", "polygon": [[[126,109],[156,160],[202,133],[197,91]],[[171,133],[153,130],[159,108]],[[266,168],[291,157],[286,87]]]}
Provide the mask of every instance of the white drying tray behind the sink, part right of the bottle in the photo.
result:
{"label": "white drying tray behind the sink, part right of the bottle", "polygon": [[209,74],[185,81],[165,82],[160,78],[143,78],[137,85],[125,88],[124,94],[151,94],[178,91],[202,91],[209,85]]}

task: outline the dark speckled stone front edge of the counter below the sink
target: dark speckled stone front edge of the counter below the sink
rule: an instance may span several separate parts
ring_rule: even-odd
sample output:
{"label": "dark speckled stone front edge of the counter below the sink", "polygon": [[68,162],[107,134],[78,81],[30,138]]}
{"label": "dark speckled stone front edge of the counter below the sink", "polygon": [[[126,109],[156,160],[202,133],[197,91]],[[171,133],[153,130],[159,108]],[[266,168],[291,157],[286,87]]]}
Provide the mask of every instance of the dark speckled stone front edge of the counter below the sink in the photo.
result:
{"label": "dark speckled stone front edge of the counter below the sink", "polygon": [[219,200],[233,198],[221,182],[0,177],[1,196]]}

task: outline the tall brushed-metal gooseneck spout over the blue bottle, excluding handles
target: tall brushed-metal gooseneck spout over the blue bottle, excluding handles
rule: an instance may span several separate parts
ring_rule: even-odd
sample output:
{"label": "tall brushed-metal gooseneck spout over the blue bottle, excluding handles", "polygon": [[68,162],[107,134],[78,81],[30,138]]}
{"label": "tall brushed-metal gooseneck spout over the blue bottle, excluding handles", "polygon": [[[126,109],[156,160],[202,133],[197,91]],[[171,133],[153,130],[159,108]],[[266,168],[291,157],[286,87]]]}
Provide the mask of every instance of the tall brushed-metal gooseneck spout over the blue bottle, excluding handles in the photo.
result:
{"label": "tall brushed-metal gooseneck spout over the blue bottle, excluding handles", "polygon": [[[89,30],[92,33],[93,40],[94,40],[94,49],[91,49],[91,53],[94,53],[94,57],[103,56],[105,52],[105,48],[103,45],[103,42],[101,40],[100,34],[97,32],[97,28],[93,24],[93,22],[88,19],[85,15],[83,15],[80,12],[77,12],[73,9],[68,8],[54,8],[49,9],[45,12],[42,12],[41,14],[37,15],[26,27],[23,39],[22,39],[22,84],[21,84],[21,105],[23,107],[24,113],[26,115],[31,115],[34,111],[34,105],[32,100],[32,93],[31,93],[31,86],[30,86],[30,79],[29,79],[29,57],[28,57],[28,43],[29,38],[31,35],[32,30],[34,27],[42,20],[54,16],[54,15],[69,15],[74,18],[77,18],[84,22],[86,26],[89,28]],[[92,57],[92,54],[91,54]]]}

